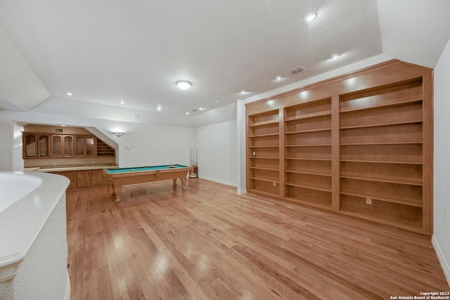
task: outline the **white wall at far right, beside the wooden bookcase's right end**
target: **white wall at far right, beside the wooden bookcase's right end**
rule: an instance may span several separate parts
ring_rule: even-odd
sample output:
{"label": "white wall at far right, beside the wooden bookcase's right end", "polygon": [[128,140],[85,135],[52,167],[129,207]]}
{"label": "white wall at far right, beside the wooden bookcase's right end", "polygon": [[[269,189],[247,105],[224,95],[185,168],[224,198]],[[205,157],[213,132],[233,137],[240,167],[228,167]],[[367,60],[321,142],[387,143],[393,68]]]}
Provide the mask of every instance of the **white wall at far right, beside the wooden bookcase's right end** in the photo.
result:
{"label": "white wall at far right, beside the wooden bookcase's right end", "polygon": [[450,41],[435,67],[434,227],[432,242],[450,284]]}

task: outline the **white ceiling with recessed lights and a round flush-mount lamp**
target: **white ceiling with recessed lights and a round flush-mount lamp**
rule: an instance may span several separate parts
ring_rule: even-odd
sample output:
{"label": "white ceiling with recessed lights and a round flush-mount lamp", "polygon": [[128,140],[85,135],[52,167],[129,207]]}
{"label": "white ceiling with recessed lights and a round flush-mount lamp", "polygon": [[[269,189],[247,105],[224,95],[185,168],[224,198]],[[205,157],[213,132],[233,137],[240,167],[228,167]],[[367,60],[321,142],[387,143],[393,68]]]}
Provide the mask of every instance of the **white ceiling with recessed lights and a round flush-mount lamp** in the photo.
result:
{"label": "white ceiling with recessed lights and a round flush-mount lamp", "polygon": [[434,67],[450,1],[0,0],[0,27],[0,109],[75,101],[193,116],[381,53]]}

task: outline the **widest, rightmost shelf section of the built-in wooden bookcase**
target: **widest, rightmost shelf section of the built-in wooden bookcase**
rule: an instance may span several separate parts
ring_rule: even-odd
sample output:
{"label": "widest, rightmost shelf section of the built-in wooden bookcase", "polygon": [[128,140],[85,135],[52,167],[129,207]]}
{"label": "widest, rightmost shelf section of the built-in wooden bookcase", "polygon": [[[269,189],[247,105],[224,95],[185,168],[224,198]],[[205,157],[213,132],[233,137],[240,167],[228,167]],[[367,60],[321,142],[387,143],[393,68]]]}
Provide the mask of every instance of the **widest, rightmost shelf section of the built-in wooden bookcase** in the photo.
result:
{"label": "widest, rightmost shelf section of the built-in wooden bookcase", "polygon": [[422,228],[422,86],[418,78],[340,97],[342,212]]}

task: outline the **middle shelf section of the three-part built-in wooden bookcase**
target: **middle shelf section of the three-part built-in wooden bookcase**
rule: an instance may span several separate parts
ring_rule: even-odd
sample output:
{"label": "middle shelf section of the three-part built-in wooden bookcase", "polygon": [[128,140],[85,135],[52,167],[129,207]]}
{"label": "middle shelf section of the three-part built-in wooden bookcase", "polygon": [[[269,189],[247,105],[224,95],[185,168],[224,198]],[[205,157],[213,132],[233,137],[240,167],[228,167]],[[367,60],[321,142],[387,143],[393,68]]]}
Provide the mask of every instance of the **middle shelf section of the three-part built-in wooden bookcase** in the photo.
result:
{"label": "middle shelf section of the three-part built-in wooden bookcase", "polygon": [[285,107],[284,197],[331,208],[331,99]]}

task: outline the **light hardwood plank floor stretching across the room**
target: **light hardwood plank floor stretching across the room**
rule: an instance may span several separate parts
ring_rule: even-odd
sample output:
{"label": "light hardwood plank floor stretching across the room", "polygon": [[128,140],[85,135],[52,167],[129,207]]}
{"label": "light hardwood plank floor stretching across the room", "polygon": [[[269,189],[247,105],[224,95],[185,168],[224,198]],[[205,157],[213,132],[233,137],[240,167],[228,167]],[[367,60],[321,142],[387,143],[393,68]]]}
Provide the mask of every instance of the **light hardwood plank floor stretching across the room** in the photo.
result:
{"label": "light hardwood plank floor stretching across the room", "polygon": [[429,237],[189,179],[69,190],[72,300],[390,299],[449,291]]}

